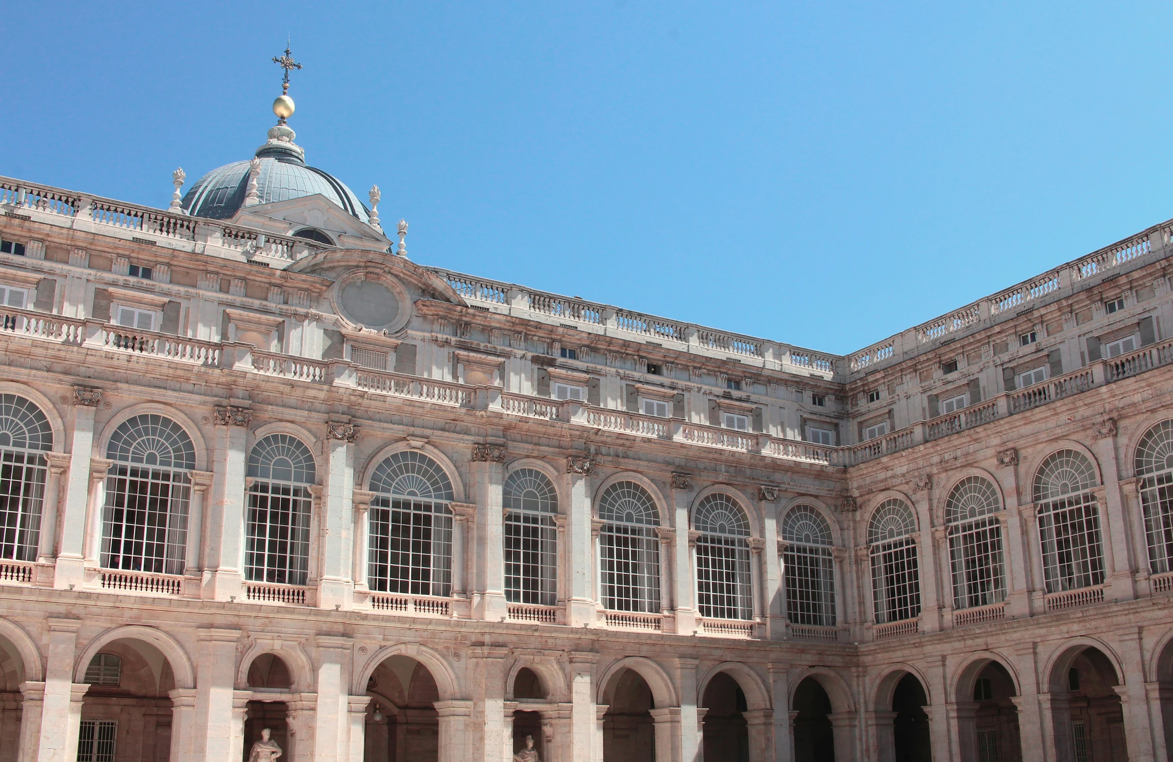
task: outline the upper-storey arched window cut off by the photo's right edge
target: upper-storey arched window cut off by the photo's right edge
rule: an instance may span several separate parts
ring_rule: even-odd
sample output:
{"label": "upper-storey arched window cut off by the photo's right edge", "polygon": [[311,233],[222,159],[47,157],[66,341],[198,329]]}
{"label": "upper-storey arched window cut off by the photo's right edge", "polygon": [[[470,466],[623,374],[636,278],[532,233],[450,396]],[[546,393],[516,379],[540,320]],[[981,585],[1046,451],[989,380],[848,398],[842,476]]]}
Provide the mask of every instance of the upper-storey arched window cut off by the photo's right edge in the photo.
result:
{"label": "upper-storey arched window cut off by the photo's right edge", "polygon": [[1148,571],[1164,574],[1173,571],[1173,420],[1145,432],[1133,467],[1140,477]]}

